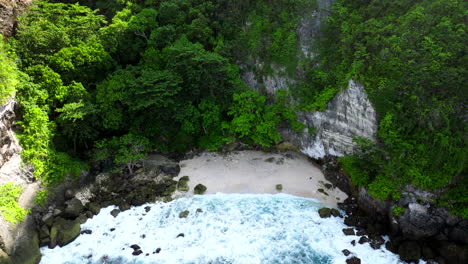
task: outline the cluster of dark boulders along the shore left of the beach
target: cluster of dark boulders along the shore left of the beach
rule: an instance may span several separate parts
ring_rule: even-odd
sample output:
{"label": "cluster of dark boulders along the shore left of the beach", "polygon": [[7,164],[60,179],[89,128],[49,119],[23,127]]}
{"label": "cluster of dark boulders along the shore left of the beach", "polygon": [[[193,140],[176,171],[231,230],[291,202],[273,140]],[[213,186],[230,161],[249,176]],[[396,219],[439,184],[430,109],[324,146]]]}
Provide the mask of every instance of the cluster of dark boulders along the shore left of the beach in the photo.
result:
{"label": "cluster of dark boulders along the shore left of the beach", "polygon": [[134,175],[101,173],[90,185],[79,190],[66,190],[63,205],[55,204],[36,213],[40,246],[64,246],[80,234],[80,224],[98,214],[100,208],[117,205],[111,214],[116,217],[131,206],[157,200],[169,201],[176,190],[173,178],[180,171],[179,164],[162,156],[150,156]]}

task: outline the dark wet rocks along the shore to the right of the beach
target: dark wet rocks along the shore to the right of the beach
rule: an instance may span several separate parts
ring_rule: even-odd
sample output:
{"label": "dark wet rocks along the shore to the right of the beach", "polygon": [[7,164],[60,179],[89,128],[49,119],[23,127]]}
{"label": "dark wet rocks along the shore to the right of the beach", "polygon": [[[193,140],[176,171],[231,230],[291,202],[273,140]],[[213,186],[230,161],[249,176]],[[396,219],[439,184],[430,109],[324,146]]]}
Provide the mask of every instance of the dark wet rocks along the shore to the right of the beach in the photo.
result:
{"label": "dark wet rocks along the shore to the right of the beach", "polygon": [[[336,159],[326,160],[324,172],[329,181],[350,196],[339,204],[347,214],[345,224],[353,227],[343,232],[361,236],[358,243],[380,248],[381,236],[388,235],[386,249],[400,255],[403,261],[468,263],[468,221],[430,203],[429,196],[433,194],[408,188],[397,202],[381,201],[372,198],[364,188],[353,186],[339,170]],[[399,216],[393,213],[396,206],[404,209]]]}

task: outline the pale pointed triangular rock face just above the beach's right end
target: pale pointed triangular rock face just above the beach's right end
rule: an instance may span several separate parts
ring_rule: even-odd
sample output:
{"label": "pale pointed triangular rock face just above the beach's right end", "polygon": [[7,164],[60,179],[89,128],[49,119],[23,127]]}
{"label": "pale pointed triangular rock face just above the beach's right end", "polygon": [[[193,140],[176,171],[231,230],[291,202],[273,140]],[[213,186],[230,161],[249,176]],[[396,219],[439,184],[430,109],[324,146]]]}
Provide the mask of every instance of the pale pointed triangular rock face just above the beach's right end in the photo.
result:
{"label": "pale pointed triangular rock face just above the beach's right end", "polygon": [[328,103],[325,112],[302,113],[299,119],[307,127],[315,127],[315,135],[307,130],[299,134],[284,130],[283,137],[316,159],[352,153],[353,137],[375,140],[378,128],[376,113],[364,86],[354,80]]}

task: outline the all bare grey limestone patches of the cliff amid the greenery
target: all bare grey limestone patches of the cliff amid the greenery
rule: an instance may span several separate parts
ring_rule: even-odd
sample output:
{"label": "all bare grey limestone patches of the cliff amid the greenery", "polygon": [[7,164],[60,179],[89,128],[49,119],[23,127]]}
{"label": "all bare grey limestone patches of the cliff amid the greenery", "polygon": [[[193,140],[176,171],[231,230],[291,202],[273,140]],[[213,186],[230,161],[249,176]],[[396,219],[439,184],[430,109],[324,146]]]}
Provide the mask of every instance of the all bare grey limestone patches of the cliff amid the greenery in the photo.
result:
{"label": "all bare grey limestone patches of the cliff amid the greenery", "polygon": [[[314,46],[322,34],[321,27],[329,15],[334,0],[317,0],[317,8],[304,16],[296,30],[298,36],[298,59],[305,62],[317,55]],[[262,75],[264,63],[258,59],[241,65],[245,70],[242,79],[255,90],[262,90],[274,95],[279,89],[289,89],[304,78],[300,69],[291,76],[284,67],[271,65],[272,73]],[[310,129],[296,133],[290,129],[282,131],[283,138],[293,143],[308,156],[321,159],[327,155],[342,156],[353,151],[353,137],[364,137],[374,140],[377,131],[375,110],[365,92],[364,86],[350,80],[332,99],[325,112],[300,113],[299,120]],[[312,130],[311,130],[312,131]]]}

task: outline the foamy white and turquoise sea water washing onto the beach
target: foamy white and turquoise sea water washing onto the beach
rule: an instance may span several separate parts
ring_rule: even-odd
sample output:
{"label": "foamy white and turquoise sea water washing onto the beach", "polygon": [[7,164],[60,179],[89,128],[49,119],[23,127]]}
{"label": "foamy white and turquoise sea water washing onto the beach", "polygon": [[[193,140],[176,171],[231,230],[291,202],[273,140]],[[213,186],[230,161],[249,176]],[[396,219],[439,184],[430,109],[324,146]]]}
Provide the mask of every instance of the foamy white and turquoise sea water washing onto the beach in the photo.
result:
{"label": "foamy white and turquoise sea water washing onto the beach", "polygon": [[[110,206],[81,226],[92,234],[42,248],[40,263],[343,264],[344,249],[361,263],[403,263],[384,247],[352,246],[359,237],[343,234],[342,218],[320,218],[323,206],[286,194],[219,193],[132,207],[115,218]],[[142,254],[132,255],[134,244]]]}

